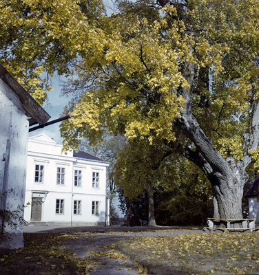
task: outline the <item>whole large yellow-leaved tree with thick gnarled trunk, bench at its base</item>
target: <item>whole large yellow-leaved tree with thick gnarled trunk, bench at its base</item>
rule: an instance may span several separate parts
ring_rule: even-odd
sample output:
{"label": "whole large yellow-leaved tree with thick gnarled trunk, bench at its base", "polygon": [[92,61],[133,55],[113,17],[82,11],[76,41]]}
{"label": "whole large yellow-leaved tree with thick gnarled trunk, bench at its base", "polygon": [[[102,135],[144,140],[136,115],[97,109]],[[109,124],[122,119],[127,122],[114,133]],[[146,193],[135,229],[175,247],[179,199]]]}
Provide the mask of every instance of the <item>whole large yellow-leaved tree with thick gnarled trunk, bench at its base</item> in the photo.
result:
{"label": "whole large yellow-leaved tree with thick gnarled trunk, bench at its base", "polygon": [[65,146],[103,126],[130,140],[158,138],[203,170],[214,217],[242,219],[259,139],[259,2],[170,3],[156,12],[149,1],[121,2],[107,28],[94,32],[81,61],[94,85],[61,129]]}

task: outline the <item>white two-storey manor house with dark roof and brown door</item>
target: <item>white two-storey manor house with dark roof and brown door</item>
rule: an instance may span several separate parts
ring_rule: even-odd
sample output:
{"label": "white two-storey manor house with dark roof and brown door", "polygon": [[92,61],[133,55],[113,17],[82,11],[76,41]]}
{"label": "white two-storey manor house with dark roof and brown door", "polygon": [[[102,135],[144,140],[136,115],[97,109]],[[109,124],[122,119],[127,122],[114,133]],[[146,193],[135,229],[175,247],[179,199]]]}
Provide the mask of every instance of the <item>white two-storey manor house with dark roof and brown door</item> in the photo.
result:
{"label": "white two-storey manor house with dark roof and brown door", "polygon": [[29,137],[24,219],[51,225],[109,225],[107,162],[79,151],[61,153],[45,133]]}

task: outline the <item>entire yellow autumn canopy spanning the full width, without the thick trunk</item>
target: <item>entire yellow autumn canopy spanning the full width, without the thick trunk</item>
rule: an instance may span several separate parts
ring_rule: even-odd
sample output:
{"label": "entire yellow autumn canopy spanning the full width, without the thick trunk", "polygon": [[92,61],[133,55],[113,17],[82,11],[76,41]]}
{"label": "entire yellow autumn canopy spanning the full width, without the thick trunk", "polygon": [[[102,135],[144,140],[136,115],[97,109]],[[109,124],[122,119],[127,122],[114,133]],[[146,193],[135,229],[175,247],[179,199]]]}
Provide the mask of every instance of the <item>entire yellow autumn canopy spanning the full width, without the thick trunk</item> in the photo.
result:
{"label": "entire yellow autumn canopy spanning the full width, without the thick trunk", "polygon": [[107,16],[97,0],[0,3],[0,62],[41,104],[48,77],[68,77],[64,149],[104,128],[191,148],[175,126],[190,104],[214,148],[242,160],[258,100],[259,1],[117,4]]}

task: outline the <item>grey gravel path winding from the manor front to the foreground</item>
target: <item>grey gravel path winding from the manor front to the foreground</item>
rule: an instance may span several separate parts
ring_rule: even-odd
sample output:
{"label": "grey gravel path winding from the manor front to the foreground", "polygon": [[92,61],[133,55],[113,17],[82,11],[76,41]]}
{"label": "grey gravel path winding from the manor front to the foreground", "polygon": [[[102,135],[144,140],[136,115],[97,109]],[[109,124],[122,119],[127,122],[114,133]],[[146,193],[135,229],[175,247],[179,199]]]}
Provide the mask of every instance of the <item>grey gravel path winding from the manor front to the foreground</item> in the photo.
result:
{"label": "grey gravel path winding from the manor front to the foreground", "polygon": [[[188,228],[187,228],[188,229]],[[111,247],[116,241],[129,239],[135,236],[165,236],[172,234],[187,234],[203,232],[200,228],[189,227],[189,230],[183,228],[163,228],[163,227],[69,227],[60,228],[52,226],[25,226],[24,232],[79,232],[78,239],[68,241],[66,246],[81,258],[92,258],[93,261],[99,261],[94,265],[95,270],[90,270],[90,275],[136,275],[138,264],[127,258],[127,255],[121,256],[121,252]],[[112,252],[111,252],[112,250]],[[115,255],[115,256],[114,256]],[[101,262],[101,263],[100,263]],[[143,273],[145,274],[145,273]],[[152,274],[152,273],[149,273]],[[172,270],[172,274],[174,271]],[[178,275],[187,274],[178,272]]]}

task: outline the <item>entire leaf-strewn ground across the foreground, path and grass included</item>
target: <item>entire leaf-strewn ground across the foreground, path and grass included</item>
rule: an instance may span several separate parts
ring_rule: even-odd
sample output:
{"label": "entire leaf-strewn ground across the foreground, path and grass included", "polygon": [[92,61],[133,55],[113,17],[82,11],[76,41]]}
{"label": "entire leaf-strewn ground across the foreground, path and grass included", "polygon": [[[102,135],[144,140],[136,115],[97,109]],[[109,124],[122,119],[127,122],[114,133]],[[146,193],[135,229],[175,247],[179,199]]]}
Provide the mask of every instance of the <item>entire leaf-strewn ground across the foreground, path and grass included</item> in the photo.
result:
{"label": "entire leaf-strewn ground across the foreground, path and grass included", "polygon": [[124,229],[24,234],[0,274],[259,274],[257,232]]}

